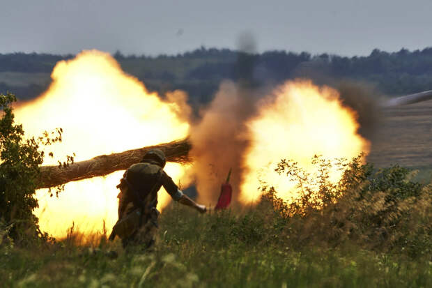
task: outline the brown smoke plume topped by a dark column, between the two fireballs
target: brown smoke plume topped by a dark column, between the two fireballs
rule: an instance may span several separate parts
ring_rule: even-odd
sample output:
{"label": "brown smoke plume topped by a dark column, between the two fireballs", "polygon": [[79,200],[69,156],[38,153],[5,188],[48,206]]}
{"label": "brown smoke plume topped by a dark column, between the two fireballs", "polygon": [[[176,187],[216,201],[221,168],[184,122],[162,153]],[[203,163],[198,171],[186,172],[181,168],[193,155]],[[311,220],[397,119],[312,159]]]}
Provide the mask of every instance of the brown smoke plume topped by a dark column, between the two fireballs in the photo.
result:
{"label": "brown smoke plume topped by a dark column, between the two fireballs", "polygon": [[237,82],[223,82],[215,99],[202,109],[201,119],[192,126],[190,139],[199,200],[215,204],[220,185],[232,168],[234,201],[240,185],[242,155],[248,146],[245,123],[256,112],[260,93],[254,84],[255,41],[250,33],[239,38]]}

